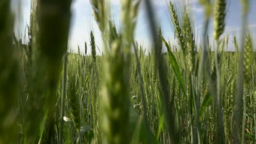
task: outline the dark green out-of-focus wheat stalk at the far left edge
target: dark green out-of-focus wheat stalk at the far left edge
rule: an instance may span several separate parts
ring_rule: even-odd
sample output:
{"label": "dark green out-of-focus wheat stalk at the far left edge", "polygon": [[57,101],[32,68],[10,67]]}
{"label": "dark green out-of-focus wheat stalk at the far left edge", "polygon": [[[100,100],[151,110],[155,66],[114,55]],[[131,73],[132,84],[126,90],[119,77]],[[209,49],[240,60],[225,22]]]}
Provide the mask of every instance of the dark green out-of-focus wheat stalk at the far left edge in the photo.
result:
{"label": "dark green out-of-focus wheat stalk at the far left edge", "polygon": [[14,17],[10,0],[0,2],[0,144],[17,143],[15,103],[20,94],[17,49],[13,46]]}

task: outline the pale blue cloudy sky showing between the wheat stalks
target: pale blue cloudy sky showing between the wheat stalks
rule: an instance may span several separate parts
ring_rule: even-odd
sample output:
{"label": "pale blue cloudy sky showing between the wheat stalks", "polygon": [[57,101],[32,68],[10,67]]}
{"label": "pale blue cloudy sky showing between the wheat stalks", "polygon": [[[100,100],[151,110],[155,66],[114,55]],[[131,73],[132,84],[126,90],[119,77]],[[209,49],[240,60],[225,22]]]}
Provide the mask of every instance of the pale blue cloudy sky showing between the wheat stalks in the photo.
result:
{"label": "pale blue cloudy sky showing between the wheat stalks", "polygon": [[[112,19],[120,27],[120,1],[121,0],[110,0],[111,2],[111,13]],[[148,31],[148,21],[146,19],[144,0],[142,0],[138,23],[135,29],[135,39],[144,46],[146,49],[150,49],[151,38]],[[168,10],[169,0],[152,0],[154,6],[154,12],[157,17],[158,23],[160,23],[164,37],[171,43],[174,42],[174,29],[171,24],[170,12]],[[181,7],[181,1],[184,0],[172,0],[175,1],[177,7]],[[29,23],[30,19],[30,0],[13,0],[13,9],[18,10],[18,3],[22,6],[20,13],[16,13],[16,31],[22,33],[26,31],[26,24]],[[191,16],[194,20],[194,29],[196,32],[196,41],[200,41],[203,26],[203,8],[197,2],[197,0],[189,0],[187,5],[191,9]],[[241,5],[240,0],[227,0],[226,9],[226,28],[225,34],[229,33],[230,38],[233,34],[236,34],[237,38],[240,39],[240,24],[241,24]],[[250,0],[250,12],[249,12],[249,30],[253,36],[253,41],[256,40],[256,0]],[[77,50],[77,45],[84,47],[84,42],[89,43],[89,31],[93,29],[95,32],[95,41],[100,51],[102,51],[102,40],[98,26],[92,17],[92,7],[90,0],[73,0],[72,3],[72,22],[69,33],[69,47],[73,50]],[[212,37],[213,26],[212,21],[210,23],[209,36]],[[21,35],[21,34],[20,34]],[[24,36],[26,37],[26,36]],[[234,48],[232,40],[229,41],[230,50]],[[165,51],[165,50],[164,50]],[[90,50],[89,50],[90,52]],[[101,52],[97,49],[97,54]]]}

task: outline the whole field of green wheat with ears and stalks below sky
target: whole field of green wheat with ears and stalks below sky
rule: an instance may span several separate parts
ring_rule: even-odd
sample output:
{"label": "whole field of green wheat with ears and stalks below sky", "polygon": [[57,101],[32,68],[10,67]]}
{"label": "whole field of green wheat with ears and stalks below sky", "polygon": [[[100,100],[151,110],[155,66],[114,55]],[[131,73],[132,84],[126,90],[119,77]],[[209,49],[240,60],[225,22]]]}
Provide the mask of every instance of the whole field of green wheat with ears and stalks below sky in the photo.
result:
{"label": "whole field of green wheat with ears and stalks below sky", "polygon": [[[90,1],[102,56],[93,29],[90,43],[67,52],[72,0],[33,0],[26,44],[13,34],[10,0],[0,1],[0,144],[255,144],[249,0],[241,0],[241,43],[223,35],[226,0],[199,0],[200,43],[189,9],[180,14],[174,1],[168,7],[177,43],[162,36],[151,0],[121,0],[121,30],[108,0]],[[141,1],[154,42],[148,54],[134,38]]]}

